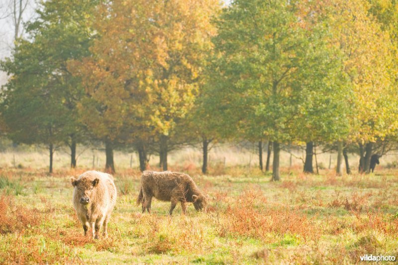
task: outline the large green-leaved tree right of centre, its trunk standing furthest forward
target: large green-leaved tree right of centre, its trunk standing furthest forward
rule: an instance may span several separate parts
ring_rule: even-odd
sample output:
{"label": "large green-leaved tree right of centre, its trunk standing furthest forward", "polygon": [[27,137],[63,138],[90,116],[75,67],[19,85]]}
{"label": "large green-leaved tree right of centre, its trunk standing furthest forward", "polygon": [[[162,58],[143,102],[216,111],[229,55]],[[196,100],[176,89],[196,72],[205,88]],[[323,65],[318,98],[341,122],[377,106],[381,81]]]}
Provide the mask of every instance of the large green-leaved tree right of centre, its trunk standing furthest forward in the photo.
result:
{"label": "large green-leaved tree right of centre, its trunk standing furthest forward", "polygon": [[[216,75],[229,80],[223,83],[224,93],[237,95],[232,97],[236,102],[229,100],[233,102],[230,106],[243,102],[246,107],[246,118],[240,123],[257,124],[273,141],[273,180],[280,179],[281,143],[295,140],[296,132],[308,126],[306,113],[316,113],[315,107],[309,108],[314,101],[306,105],[306,100],[319,100],[330,89],[340,87],[340,81],[327,82],[338,77],[339,61],[334,63],[330,57],[336,49],[322,40],[327,32],[321,23],[306,28],[300,22],[297,4],[237,0],[217,23],[216,51],[222,56]],[[327,89],[322,90],[324,84]]]}

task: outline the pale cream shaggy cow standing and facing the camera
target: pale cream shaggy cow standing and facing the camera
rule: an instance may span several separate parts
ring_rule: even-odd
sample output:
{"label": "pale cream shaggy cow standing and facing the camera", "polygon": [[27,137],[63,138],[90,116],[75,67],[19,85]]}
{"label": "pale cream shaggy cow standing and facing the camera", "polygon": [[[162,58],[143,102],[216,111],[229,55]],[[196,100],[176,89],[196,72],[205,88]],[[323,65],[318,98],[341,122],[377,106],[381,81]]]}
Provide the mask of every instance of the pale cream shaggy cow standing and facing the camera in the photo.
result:
{"label": "pale cream shaggy cow standing and facing the camera", "polygon": [[103,236],[107,237],[106,227],[116,203],[116,187],[113,177],[98,171],[87,171],[78,179],[71,178],[73,205],[82,222],[84,235],[92,229],[93,238],[98,239],[101,226]]}

